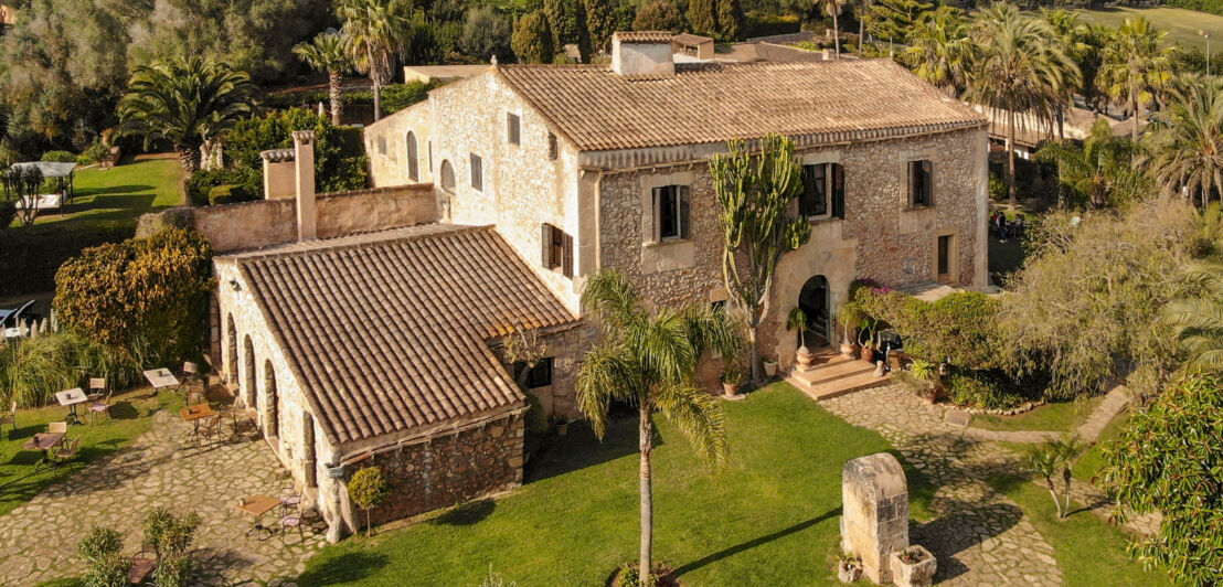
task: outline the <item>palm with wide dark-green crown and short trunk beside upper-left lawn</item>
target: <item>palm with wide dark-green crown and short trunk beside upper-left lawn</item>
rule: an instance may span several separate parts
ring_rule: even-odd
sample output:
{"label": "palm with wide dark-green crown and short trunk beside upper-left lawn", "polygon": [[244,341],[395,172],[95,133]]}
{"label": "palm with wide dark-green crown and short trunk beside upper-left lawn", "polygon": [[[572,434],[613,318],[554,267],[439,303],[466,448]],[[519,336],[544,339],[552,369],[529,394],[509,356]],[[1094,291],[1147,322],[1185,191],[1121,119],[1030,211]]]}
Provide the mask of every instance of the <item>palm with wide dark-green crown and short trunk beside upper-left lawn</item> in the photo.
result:
{"label": "palm with wide dark-green crown and short trunk beside upper-left lawn", "polygon": [[199,147],[252,111],[254,86],[246,72],[202,57],[157,61],[132,72],[119,100],[120,131],[166,139],[182,169],[199,168]]}

